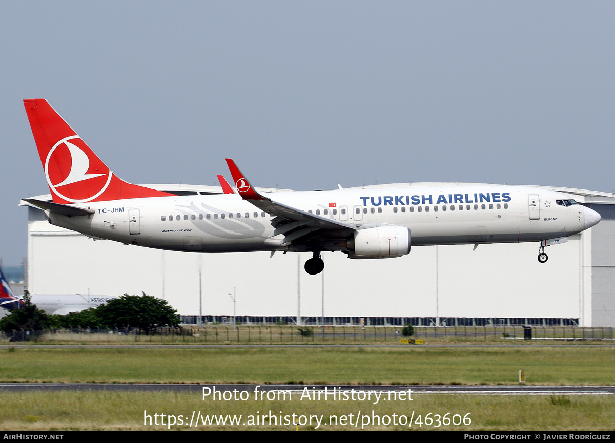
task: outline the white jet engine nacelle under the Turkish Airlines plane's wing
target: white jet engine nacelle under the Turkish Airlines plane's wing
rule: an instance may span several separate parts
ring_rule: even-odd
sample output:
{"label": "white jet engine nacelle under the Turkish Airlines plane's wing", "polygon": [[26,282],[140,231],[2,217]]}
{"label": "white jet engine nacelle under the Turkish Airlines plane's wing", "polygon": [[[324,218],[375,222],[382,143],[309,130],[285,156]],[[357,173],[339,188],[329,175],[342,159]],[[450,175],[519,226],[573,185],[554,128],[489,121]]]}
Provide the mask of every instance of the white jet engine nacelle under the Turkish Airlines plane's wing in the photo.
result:
{"label": "white jet engine nacelle under the Turkish Airlines plane's wing", "polygon": [[348,241],[351,259],[385,259],[410,253],[410,229],[395,225],[375,225],[359,229]]}

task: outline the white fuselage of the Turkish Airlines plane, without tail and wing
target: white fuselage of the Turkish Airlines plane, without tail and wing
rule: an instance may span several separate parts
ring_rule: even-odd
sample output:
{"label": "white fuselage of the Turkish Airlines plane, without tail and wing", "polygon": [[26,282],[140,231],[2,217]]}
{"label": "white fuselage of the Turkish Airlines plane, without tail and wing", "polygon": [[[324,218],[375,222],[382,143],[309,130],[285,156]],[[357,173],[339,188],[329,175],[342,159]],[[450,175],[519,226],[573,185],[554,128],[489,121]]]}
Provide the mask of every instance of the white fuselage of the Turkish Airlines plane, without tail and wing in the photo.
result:
{"label": "white fuselage of the Turkish Airlines plane, without tail and wing", "polygon": [[[585,213],[591,211],[578,204],[558,204],[569,201],[566,194],[525,186],[410,186],[267,195],[359,227],[407,227],[411,244],[417,246],[568,237],[586,229]],[[91,237],[150,248],[204,253],[297,250],[285,248],[283,235],[270,238],[274,216],[237,194],[130,198],[75,206],[95,213],[87,217],[51,213],[50,222]]]}

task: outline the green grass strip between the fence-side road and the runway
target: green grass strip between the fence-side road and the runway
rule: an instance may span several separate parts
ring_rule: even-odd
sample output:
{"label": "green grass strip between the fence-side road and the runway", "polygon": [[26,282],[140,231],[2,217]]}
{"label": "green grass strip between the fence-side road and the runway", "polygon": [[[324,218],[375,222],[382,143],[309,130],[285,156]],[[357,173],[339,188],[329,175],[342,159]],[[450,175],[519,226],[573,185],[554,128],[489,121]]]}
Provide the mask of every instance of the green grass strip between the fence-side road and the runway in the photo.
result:
{"label": "green grass strip between the fence-side road and the runway", "polygon": [[614,348],[17,348],[0,382],[612,385]]}

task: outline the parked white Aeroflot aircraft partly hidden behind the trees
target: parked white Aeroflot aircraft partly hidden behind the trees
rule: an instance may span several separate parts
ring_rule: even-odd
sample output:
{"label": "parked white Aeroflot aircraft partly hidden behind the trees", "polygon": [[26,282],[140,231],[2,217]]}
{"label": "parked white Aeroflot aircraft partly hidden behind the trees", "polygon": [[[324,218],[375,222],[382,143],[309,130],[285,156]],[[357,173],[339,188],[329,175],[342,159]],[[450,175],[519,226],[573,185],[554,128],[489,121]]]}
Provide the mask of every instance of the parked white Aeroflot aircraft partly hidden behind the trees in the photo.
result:
{"label": "parked white Aeroflot aircraft partly hidden behind the trees", "polygon": [[[63,296],[32,294],[30,301],[37,308],[44,310],[48,314],[66,315],[70,312],[79,312],[84,309],[104,305],[109,300],[116,298],[109,296],[82,296],[80,294]],[[12,311],[20,309],[22,306],[23,300],[15,296],[4,273],[0,269],[0,307]]]}

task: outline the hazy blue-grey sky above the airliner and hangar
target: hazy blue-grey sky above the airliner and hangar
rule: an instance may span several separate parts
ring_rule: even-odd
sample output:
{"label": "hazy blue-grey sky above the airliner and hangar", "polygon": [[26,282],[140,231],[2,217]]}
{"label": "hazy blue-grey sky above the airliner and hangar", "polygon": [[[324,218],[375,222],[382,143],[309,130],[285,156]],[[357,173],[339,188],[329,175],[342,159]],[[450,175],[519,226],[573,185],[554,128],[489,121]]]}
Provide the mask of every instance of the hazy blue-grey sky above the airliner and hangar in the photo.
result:
{"label": "hazy blue-grey sky above the airliner and hangar", "polygon": [[611,191],[615,3],[2,2],[0,256],[49,192],[22,100],[121,178]]}

